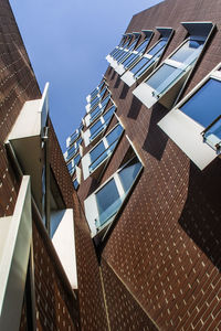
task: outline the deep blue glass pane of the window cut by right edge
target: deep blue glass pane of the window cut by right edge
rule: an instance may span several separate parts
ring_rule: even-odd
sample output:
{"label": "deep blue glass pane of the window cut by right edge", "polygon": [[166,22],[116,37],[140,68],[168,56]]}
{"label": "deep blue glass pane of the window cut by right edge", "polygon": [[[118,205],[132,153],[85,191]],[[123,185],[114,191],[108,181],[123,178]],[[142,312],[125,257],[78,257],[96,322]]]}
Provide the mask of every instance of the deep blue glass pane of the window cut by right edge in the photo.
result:
{"label": "deep blue glass pane of the window cut by right edge", "polygon": [[209,79],[180,109],[208,127],[220,114],[221,82]]}

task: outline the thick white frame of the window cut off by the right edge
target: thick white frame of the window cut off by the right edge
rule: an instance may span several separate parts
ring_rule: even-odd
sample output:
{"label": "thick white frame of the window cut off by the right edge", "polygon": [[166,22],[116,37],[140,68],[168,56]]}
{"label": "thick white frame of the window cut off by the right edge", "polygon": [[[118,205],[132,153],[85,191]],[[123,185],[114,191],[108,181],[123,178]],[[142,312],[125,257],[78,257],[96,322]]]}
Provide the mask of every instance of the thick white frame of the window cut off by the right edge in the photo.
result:
{"label": "thick white frame of the window cut off by the right edge", "polygon": [[203,140],[203,132],[208,127],[204,128],[201,124],[182,111],[181,107],[190,100],[209,79],[217,79],[221,83],[220,68],[221,62],[158,122],[158,126],[166,135],[175,141],[200,170],[203,170],[212,162],[221,153],[221,150],[214,150]]}

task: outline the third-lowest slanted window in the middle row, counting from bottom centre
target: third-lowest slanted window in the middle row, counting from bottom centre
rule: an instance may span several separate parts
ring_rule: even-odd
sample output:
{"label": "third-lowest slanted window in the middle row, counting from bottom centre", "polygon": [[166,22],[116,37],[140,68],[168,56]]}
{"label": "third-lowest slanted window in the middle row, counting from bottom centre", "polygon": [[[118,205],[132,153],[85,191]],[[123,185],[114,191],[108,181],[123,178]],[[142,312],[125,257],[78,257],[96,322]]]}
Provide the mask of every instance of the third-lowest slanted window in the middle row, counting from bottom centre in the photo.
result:
{"label": "third-lowest slanted window in the middle row, counting from bottom centre", "polygon": [[99,117],[85,132],[84,132],[84,143],[88,146],[90,143],[94,145],[97,142],[97,139],[101,137],[102,132],[106,129],[112,119],[112,116],[116,111],[116,106],[109,107],[103,116]]}

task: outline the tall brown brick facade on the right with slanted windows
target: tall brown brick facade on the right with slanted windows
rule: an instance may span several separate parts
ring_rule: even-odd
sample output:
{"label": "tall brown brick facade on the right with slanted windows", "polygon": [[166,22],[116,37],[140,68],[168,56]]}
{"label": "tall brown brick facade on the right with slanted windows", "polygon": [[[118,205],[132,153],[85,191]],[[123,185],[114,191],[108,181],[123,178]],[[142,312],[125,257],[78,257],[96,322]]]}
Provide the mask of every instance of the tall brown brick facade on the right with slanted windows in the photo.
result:
{"label": "tall brown brick facade on the right with slanted windows", "polygon": [[135,14],[67,138],[85,330],[221,330],[220,6]]}

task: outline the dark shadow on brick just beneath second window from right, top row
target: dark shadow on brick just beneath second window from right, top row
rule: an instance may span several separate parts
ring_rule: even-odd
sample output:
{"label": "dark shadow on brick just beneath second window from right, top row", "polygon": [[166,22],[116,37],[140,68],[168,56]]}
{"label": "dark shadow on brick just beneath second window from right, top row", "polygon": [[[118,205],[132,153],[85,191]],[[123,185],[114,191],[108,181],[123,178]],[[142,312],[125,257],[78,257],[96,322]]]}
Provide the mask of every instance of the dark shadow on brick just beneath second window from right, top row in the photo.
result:
{"label": "dark shadow on brick just beneath second window from right, top row", "polygon": [[[147,109],[147,111],[150,111]],[[160,104],[152,107],[149,129],[143,149],[150,153],[157,160],[160,160],[166,148],[168,136],[158,127],[158,122],[166,116],[168,110]]]}

